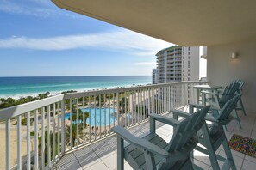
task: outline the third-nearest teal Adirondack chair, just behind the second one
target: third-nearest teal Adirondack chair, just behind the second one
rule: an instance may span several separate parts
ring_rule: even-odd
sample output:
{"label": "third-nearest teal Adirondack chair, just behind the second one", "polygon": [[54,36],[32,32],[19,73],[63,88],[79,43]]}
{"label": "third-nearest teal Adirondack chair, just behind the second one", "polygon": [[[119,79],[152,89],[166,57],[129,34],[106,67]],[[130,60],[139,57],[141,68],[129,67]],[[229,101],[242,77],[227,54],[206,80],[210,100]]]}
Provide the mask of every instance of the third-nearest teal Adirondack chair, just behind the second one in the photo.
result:
{"label": "third-nearest teal Adirondack chair, just behind the second one", "polygon": [[[224,88],[222,93],[212,93],[208,91],[202,91],[202,95],[209,97],[206,99],[207,103],[214,108],[222,108],[226,102],[234,97],[234,95],[240,93],[240,81],[234,81]],[[240,99],[241,100],[241,99]],[[240,118],[237,114],[237,106],[234,107],[235,118],[241,128]],[[227,128],[226,128],[227,130]]]}

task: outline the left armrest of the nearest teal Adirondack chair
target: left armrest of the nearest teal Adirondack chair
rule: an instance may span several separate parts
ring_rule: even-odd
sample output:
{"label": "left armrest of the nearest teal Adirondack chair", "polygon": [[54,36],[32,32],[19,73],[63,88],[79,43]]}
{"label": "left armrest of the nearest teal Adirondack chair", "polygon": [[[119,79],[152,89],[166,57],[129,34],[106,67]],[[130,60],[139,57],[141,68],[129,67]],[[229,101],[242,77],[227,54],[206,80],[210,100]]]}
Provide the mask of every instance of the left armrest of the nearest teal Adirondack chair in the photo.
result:
{"label": "left armrest of the nearest teal Adirondack chair", "polygon": [[140,138],[140,137],[135,137],[133,134],[122,128],[121,126],[117,125],[113,128],[111,128],[112,131],[116,132],[116,135],[118,137],[121,137],[128,143],[133,144],[134,146],[140,148],[142,151],[146,149],[147,151],[160,155],[164,158],[167,158],[169,153],[165,151],[164,149],[159,148],[158,146],[154,145],[153,143],[148,142],[147,140]]}

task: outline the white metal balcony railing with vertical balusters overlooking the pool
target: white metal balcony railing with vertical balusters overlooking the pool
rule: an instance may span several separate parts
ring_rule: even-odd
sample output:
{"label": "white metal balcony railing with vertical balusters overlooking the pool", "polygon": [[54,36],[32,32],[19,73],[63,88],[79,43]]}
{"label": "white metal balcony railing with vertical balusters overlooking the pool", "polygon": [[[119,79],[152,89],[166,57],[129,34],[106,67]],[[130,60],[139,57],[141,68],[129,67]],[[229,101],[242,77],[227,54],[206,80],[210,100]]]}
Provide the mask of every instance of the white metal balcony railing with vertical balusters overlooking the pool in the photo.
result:
{"label": "white metal balcony railing with vertical balusters overlooking the pool", "polygon": [[[1,167],[51,168],[66,152],[112,135],[111,128],[117,124],[128,128],[147,121],[151,112],[196,103],[193,86],[203,83],[207,82],[60,94],[0,110],[0,128],[5,131],[5,150],[1,150],[5,165]],[[16,148],[11,148],[13,143]]]}

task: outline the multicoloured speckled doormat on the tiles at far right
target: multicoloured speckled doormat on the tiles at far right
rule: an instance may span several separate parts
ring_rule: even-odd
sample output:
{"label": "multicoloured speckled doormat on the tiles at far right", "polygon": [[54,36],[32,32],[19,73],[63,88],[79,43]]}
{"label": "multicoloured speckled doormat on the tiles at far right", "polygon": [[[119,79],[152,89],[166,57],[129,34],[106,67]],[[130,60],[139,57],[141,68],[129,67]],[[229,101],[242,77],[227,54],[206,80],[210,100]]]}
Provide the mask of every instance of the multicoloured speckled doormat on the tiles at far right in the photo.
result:
{"label": "multicoloured speckled doormat on the tiles at far right", "polygon": [[256,158],[256,140],[234,134],[228,142],[229,148]]}

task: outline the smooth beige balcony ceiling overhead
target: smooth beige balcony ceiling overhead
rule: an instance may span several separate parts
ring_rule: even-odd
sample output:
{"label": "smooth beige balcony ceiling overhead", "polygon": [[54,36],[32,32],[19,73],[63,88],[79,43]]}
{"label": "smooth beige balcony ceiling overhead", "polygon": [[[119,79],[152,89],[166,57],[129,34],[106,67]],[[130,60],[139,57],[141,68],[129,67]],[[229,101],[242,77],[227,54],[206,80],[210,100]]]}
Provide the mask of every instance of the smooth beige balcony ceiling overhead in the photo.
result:
{"label": "smooth beige balcony ceiling overhead", "polygon": [[256,39],[256,1],[53,0],[87,15],[180,46]]}

